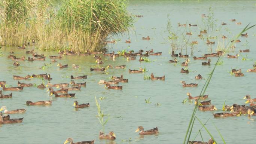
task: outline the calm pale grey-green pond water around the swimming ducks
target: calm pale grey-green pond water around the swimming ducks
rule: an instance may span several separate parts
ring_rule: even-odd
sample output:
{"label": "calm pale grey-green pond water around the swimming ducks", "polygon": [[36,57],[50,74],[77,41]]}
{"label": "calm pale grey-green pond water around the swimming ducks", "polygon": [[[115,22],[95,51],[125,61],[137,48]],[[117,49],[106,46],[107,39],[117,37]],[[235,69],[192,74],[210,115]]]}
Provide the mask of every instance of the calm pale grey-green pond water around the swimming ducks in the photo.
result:
{"label": "calm pale grey-green pond water around the swimming ducks", "polygon": [[[34,49],[28,46],[25,50],[14,47],[2,47],[3,56],[0,57],[0,75],[1,81],[7,81],[8,85],[17,86],[18,80],[13,80],[12,75],[26,76],[27,74],[43,74],[49,73],[53,78],[51,83],[69,83],[70,75],[81,76],[88,75],[87,79],[75,80],[76,83],[86,82],[86,88],[81,88],[75,92],[75,98],[55,98],[49,96],[46,89],[37,89],[36,87],[24,88],[22,91],[13,91],[12,99],[0,99],[0,106],[5,105],[8,110],[16,108],[25,108],[27,112],[24,114],[11,114],[11,118],[24,117],[23,123],[0,125],[1,143],[64,143],[66,138],[71,137],[76,141],[96,140],[95,143],[183,143],[186,129],[194,108],[193,103],[182,101],[187,98],[186,93],[190,92],[192,96],[200,94],[202,86],[206,79],[195,80],[195,76],[201,74],[207,78],[208,74],[214,67],[217,57],[211,58],[210,66],[202,66],[204,60],[193,60],[190,56],[189,74],[180,73],[182,68],[180,64],[185,61],[184,58],[177,58],[177,65],[169,63],[171,57],[169,51],[170,43],[166,38],[167,33],[167,14],[170,14],[170,21],[173,29],[177,30],[177,23],[198,24],[198,27],[187,27],[187,31],[193,33],[192,39],[198,41],[198,45],[194,50],[193,56],[201,56],[203,53],[209,53],[208,46],[204,41],[200,40],[197,35],[202,30],[201,14],[208,14],[209,7],[212,7],[214,19],[217,19],[217,27],[221,27],[221,22],[227,25],[220,28],[219,31],[211,33],[212,36],[221,37],[222,35],[231,38],[240,33],[243,28],[251,23],[256,24],[256,19],[251,13],[256,12],[255,1],[155,1],[155,0],[129,0],[128,10],[134,15],[143,15],[142,18],[135,18],[134,30],[129,34],[114,39],[120,39],[116,44],[109,44],[110,51],[117,50],[134,50],[140,49],[162,52],[162,56],[149,56],[151,62],[138,62],[138,58],[134,61],[127,61],[124,57],[118,57],[114,61],[109,57],[103,56],[104,64],[102,66],[126,65],[125,69],[108,69],[104,72],[91,72],[90,67],[95,65],[92,56],[64,56],[63,59],[56,63],[51,63],[49,55],[58,55],[57,52],[43,52],[36,50],[37,53],[44,53],[46,61],[20,62],[20,69],[13,66],[13,61],[7,59],[10,49],[13,48],[14,55],[21,57],[25,54],[25,50]],[[237,19],[241,25],[236,22],[229,21]],[[182,28],[179,28],[182,30]],[[248,31],[249,36],[240,37],[241,43],[236,44],[235,52],[229,53],[235,55],[240,49],[250,49],[247,59],[243,61],[241,56],[235,59],[228,59],[226,55],[222,58],[223,65],[218,65],[205,94],[209,95],[211,103],[216,105],[217,111],[197,111],[196,116],[202,122],[208,121],[207,129],[213,134],[217,142],[222,140],[216,131],[217,126],[223,135],[226,143],[255,143],[252,139],[255,134],[255,117],[248,118],[228,117],[216,119],[213,113],[222,112],[223,102],[232,105],[234,103],[244,104],[243,97],[246,94],[255,95],[255,73],[247,73],[246,70],[252,68],[256,55],[255,50],[255,28]],[[142,37],[150,36],[150,40],[142,40]],[[131,39],[131,43],[125,43],[125,40]],[[218,41],[222,39],[211,39],[215,41],[213,52],[216,51]],[[247,43],[248,41],[249,43]],[[176,50],[176,53],[180,50]],[[188,49],[188,54],[191,50]],[[183,51],[183,54],[185,51]],[[57,63],[68,64],[68,68],[60,69]],[[48,69],[39,70],[44,63],[49,64]],[[79,70],[73,70],[72,64],[80,65]],[[144,74],[129,74],[128,69],[144,68],[148,70],[146,74],[153,73],[155,76],[164,76],[165,81],[161,80],[144,80]],[[241,68],[244,77],[231,76],[228,71],[231,68]],[[99,80],[110,80],[110,76],[124,75],[125,79],[129,79],[128,83],[119,83],[123,86],[123,90],[108,90],[104,85],[99,85]],[[197,88],[183,88],[180,81],[187,83],[198,83]],[[31,80],[20,80],[23,83],[42,83],[42,79],[33,78]],[[47,81],[45,81],[47,83]],[[3,91],[3,94],[9,94],[9,91]],[[71,92],[73,93],[73,92]],[[105,114],[110,114],[110,120],[104,127],[105,132],[114,131],[116,134],[115,141],[98,140],[99,131],[102,129],[98,122],[97,107],[95,105],[95,96],[100,102],[101,108]],[[105,99],[100,100],[100,96]],[[145,99],[150,98],[150,102],[146,104]],[[36,102],[52,99],[52,105],[43,106],[27,106],[27,100]],[[75,110],[72,105],[74,101],[79,103],[90,103],[89,108],[80,108]],[[161,105],[156,106],[159,102]],[[121,117],[119,117],[121,116]],[[117,118],[119,117],[119,118]],[[145,135],[144,137],[135,133],[137,126],[143,126],[144,129],[151,129],[158,126],[158,135]],[[195,121],[193,127],[192,138],[194,138],[201,125]],[[204,141],[208,141],[210,136],[202,129],[202,137]],[[200,136],[196,140],[201,140]]]}

